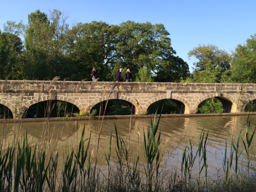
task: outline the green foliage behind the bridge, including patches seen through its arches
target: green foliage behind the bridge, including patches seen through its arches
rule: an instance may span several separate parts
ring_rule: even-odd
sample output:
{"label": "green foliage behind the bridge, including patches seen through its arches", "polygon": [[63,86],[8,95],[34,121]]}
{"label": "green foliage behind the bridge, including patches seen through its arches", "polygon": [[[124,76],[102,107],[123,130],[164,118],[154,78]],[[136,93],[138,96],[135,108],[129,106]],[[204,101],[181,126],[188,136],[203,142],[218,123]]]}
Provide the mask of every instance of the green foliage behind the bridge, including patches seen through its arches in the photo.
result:
{"label": "green foliage behind the bridge, including patches seen through its arches", "polygon": [[[256,34],[232,54],[215,45],[199,44],[188,52],[194,61],[190,73],[188,64],[176,56],[163,24],[128,20],[119,25],[92,21],[70,26],[68,17],[60,10],[49,14],[36,10],[28,15],[26,25],[7,21],[4,31],[0,30],[0,79],[52,80],[58,76],[60,80],[90,81],[95,66],[98,81],[114,81],[117,68],[124,72],[130,68],[136,82],[256,83]],[[200,112],[212,110],[212,102],[198,108]]]}

